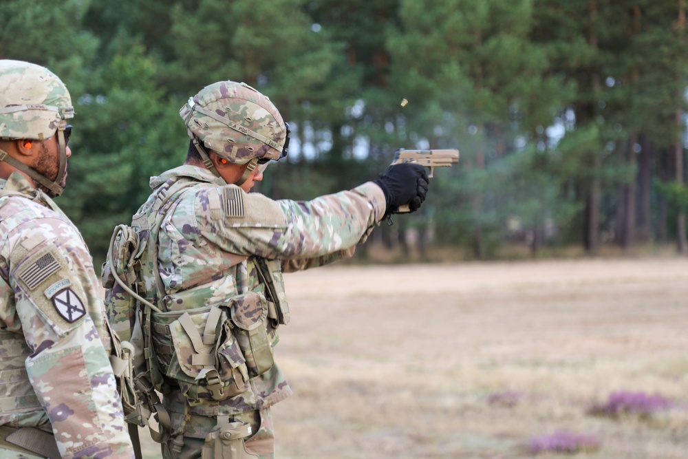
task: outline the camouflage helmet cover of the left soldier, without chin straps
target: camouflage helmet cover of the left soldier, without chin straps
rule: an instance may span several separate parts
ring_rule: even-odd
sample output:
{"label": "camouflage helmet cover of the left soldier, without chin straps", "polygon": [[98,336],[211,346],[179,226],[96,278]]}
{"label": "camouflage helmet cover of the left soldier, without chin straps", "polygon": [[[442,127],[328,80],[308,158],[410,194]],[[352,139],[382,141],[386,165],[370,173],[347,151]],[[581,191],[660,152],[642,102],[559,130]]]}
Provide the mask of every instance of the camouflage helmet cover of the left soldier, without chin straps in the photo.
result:
{"label": "camouflage helmet cover of the left soldier, without chin straps", "polygon": [[74,116],[65,84],[41,65],[0,60],[0,138],[45,140]]}

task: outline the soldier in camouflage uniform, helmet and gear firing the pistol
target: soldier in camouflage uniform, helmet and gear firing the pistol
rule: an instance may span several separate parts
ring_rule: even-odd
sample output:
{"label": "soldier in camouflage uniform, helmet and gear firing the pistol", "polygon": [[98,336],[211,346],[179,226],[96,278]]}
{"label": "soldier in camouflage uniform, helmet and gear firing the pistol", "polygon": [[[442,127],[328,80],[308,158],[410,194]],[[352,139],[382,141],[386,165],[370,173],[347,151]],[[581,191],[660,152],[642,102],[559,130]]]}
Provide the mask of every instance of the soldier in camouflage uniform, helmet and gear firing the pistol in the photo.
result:
{"label": "soldier in camouflage uniform, helmet and gear firing the pistol", "polygon": [[270,200],[246,182],[286,156],[288,125],[268,98],[218,82],[180,116],[204,167],[187,160],[152,178],[131,227],[116,228],[103,272],[108,319],[144,348],[147,370],[135,374],[148,371],[163,394],[163,432],[153,438],[164,458],[272,458],[270,406],[291,394],[272,352],[289,321],[282,273],[350,257],[391,203],[416,198],[418,186],[424,198],[425,173],[397,169],[410,178],[397,177],[395,193],[378,181],[308,202]]}

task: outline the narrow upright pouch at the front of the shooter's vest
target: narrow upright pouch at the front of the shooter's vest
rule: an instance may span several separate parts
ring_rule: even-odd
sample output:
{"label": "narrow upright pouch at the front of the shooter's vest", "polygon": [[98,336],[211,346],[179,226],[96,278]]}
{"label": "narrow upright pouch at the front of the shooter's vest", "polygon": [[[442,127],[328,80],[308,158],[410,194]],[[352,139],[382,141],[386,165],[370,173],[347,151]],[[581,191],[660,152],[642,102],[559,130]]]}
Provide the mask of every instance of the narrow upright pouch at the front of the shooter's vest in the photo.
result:
{"label": "narrow upright pouch at the front of the shooter's vest", "polygon": [[248,376],[264,374],[275,365],[271,339],[266,330],[268,301],[259,292],[232,297],[228,305],[234,326],[234,336],[246,359]]}

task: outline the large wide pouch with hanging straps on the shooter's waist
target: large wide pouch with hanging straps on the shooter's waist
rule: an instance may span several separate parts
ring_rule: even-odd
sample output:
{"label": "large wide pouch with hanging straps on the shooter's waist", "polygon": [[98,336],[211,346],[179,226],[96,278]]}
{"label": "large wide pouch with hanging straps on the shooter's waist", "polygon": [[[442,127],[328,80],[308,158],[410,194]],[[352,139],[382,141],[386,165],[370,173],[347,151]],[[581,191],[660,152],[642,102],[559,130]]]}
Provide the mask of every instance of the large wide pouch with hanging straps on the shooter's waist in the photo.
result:
{"label": "large wide pouch with hanging straps on the shooter's waist", "polygon": [[178,384],[191,406],[247,389],[246,361],[226,322],[227,312],[215,306],[151,314],[158,367]]}

